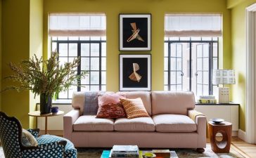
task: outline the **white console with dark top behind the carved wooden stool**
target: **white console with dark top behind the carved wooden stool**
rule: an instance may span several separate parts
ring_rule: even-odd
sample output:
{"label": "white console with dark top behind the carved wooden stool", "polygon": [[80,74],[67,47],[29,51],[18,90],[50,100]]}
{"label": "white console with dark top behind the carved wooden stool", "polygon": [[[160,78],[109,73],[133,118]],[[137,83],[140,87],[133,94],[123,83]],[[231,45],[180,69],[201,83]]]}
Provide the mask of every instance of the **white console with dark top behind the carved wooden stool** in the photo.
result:
{"label": "white console with dark top behind the carved wooden stool", "polygon": [[207,117],[207,121],[212,118],[225,119],[232,123],[232,136],[238,135],[239,129],[239,104],[236,103],[217,103],[203,104],[196,103],[198,112],[202,112]]}

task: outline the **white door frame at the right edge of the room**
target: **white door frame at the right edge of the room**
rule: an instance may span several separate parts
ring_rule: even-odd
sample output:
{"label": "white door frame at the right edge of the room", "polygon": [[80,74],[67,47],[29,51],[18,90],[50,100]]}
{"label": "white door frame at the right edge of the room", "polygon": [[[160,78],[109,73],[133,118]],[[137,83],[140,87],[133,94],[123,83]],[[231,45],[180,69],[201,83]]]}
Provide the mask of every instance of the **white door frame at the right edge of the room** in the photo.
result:
{"label": "white door frame at the right edge of the room", "polygon": [[245,92],[245,141],[256,143],[256,55],[255,55],[256,4],[246,8],[246,92]]}

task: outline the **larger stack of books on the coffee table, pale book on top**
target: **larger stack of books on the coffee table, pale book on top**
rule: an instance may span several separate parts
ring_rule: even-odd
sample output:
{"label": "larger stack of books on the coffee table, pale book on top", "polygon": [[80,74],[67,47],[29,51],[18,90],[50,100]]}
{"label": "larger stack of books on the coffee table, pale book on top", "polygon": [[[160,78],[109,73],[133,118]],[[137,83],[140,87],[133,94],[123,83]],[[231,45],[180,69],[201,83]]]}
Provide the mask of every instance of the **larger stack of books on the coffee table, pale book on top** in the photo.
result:
{"label": "larger stack of books on the coffee table, pale book on top", "polygon": [[137,158],[139,157],[139,147],[137,145],[114,145],[110,151],[110,157],[113,158],[122,158],[130,157]]}

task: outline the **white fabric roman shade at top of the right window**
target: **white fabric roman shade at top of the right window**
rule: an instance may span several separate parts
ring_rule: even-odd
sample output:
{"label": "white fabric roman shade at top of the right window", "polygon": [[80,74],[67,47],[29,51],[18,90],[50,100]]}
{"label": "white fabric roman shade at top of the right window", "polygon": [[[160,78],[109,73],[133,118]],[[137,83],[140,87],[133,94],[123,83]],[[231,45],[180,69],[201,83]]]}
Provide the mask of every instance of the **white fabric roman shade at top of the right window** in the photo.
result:
{"label": "white fabric roman shade at top of the right window", "polygon": [[221,37],[222,14],[165,14],[165,37]]}

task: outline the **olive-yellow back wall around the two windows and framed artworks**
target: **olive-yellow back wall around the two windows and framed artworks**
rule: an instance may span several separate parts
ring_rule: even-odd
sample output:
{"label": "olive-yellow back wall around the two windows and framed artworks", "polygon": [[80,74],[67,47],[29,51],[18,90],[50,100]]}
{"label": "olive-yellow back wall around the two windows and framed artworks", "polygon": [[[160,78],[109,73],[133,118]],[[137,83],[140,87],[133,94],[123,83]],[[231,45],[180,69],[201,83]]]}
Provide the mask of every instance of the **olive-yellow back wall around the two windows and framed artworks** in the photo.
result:
{"label": "olive-yellow back wall around the two windows and framed artworks", "polygon": [[[163,90],[164,16],[168,12],[223,13],[224,67],[231,67],[230,11],[224,0],[44,0],[44,58],[49,50],[48,13],[103,12],[107,16],[107,90],[119,90],[118,15],[119,13],[152,14],[152,90]],[[222,54],[222,53],[221,53]],[[221,55],[222,60],[222,55]]]}

